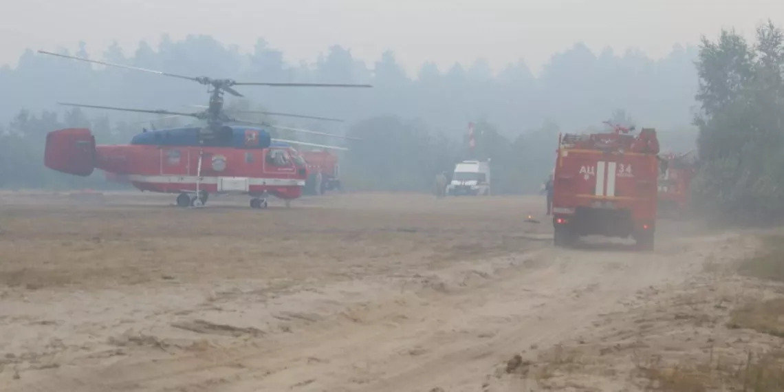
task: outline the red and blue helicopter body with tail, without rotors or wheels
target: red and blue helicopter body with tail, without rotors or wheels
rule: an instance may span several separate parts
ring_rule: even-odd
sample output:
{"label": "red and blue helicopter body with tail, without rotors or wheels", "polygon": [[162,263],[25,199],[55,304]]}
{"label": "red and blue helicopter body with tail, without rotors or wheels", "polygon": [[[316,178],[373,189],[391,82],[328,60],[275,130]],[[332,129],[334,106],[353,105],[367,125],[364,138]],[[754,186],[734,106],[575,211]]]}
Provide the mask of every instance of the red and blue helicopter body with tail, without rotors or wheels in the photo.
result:
{"label": "red and blue helicopter body with tail, without rotors or wheels", "polygon": [[60,129],[47,136],[45,164],[77,176],[101,169],[141,191],[272,194],[286,200],[302,195],[307,167],[295,149],[270,146],[263,129],[224,128],[230,133],[210,143],[200,142],[200,129],[181,128],[143,132],[130,144],[98,146],[89,129]]}

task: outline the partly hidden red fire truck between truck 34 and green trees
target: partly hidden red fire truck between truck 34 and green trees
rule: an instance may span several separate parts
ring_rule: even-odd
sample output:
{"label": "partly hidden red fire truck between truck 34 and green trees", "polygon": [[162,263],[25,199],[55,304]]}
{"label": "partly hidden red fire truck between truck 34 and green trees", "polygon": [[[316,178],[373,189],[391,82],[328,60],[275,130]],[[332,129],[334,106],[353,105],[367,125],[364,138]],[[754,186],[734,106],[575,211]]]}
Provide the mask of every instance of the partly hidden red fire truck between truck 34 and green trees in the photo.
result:
{"label": "partly hidden red fire truck between truck 34 and green trees", "polygon": [[691,201],[691,179],[696,166],[693,151],[685,154],[662,154],[662,172],[659,176],[659,215],[683,216]]}

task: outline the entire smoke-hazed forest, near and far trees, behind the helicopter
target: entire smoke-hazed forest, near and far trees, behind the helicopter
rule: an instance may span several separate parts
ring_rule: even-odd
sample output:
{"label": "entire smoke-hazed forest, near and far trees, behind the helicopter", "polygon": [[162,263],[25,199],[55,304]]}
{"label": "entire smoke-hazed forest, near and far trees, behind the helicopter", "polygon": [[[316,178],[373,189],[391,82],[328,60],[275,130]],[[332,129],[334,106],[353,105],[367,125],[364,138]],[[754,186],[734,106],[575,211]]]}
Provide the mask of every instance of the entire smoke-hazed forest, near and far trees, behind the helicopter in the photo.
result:
{"label": "entire smoke-hazed forest, near and far trees, behind the helicopter", "polygon": [[[230,106],[346,119],[345,125],[335,125],[269,118],[281,125],[364,138],[342,157],[345,183],[357,190],[430,190],[437,172],[470,158],[464,139],[468,122],[477,124],[477,153],[492,158],[495,191],[500,193],[538,191],[550,172],[558,132],[595,129],[612,116],[656,127],[666,147],[675,151],[688,150],[696,139],[690,127],[697,89],[695,47],[676,45],[669,56],[652,60],[635,50],[592,53],[575,44],[556,53],[538,76],[523,61],[493,73],[481,59],[446,70],[423,64],[418,74],[410,75],[394,53],[367,64],[339,45],[315,64],[288,64],[280,50],[263,40],[252,53],[240,53],[204,35],[178,42],[164,36],[157,49],[141,42],[132,55],[118,45],[100,55],[89,53],[84,43],[77,53],[60,52],[238,81],[371,83],[373,89],[242,86],[247,100],[227,97]],[[0,118],[7,118],[0,130],[0,187],[6,188],[111,186],[100,172],[81,179],[45,169],[44,138],[53,129],[89,126],[99,143],[127,143],[153,122],[158,128],[187,123],[182,118],[66,110],[56,102],[198,111],[192,106],[207,100],[205,87],[193,82],[91,67],[33,50],[24,53],[16,67],[0,69],[0,89]]]}

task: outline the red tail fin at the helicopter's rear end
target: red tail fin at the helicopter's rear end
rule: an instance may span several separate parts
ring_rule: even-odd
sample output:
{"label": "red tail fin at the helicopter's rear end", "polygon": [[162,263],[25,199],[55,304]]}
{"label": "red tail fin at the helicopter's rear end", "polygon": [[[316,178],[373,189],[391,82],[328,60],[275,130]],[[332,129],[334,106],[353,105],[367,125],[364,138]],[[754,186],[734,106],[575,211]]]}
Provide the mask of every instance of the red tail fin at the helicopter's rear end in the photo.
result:
{"label": "red tail fin at the helicopter's rear end", "polygon": [[93,174],[96,163],[96,140],[85,128],[67,128],[46,135],[44,165],[74,176]]}

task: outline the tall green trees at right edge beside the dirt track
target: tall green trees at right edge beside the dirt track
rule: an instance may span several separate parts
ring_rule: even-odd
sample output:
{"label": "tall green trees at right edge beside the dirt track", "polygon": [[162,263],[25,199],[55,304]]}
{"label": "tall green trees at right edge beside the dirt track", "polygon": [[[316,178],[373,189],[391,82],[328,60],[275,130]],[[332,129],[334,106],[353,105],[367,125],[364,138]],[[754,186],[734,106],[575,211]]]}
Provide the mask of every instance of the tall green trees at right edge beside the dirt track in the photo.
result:
{"label": "tall green trees at right edge beside the dirt track", "polygon": [[736,223],[784,217],[784,32],[771,22],[749,42],[735,31],[703,39],[697,100],[695,206]]}

